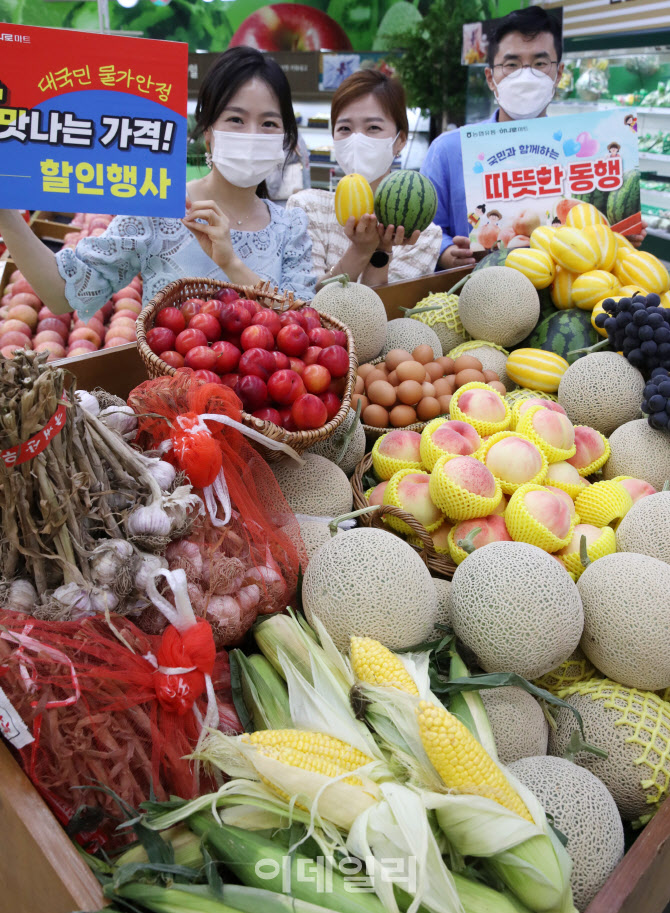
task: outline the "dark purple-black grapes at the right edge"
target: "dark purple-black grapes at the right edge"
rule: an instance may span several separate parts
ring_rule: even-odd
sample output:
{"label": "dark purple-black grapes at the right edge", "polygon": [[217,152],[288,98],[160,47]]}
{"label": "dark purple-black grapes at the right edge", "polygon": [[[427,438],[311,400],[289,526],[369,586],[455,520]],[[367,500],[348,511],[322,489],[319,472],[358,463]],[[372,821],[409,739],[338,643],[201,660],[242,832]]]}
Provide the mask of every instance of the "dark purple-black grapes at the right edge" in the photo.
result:
{"label": "dark purple-black grapes at the right edge", "polygon": [[642,412],[652,428],[670,428],[670,309],[651,293],[603,301],[596,326],[607,332],[609,344],[623,352],[647,380]]}

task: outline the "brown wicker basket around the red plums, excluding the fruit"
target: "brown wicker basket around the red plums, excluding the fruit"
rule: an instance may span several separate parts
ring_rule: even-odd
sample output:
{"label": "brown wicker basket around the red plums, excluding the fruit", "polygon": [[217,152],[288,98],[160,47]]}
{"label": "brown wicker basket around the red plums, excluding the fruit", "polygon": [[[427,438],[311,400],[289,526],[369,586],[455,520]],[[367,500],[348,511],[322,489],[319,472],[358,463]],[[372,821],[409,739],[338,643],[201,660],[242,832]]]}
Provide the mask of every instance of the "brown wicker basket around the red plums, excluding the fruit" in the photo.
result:
{"label": "brown wicker basket around the red plums, excluding the fruit", "polygon": [[[295,310],[302,307],[305,302],[294,299],[293,293],[284,294],[279,292],[276,287],[269,283],[259,284],[257,286],[234,285],[232,282],[219,282],[217,279],[178,279],[172,282],[160,291],[142,310],[137,318],[137,348],[140,357],[144,362],[149,377],[161,377],[162,375],[173,375],[176,369],[166,364],[158,355],[155,355],[147,345],[147,332],[154,326],[156,316],[159,311],[166,307],[179,307],[189,298],[213,298],[214,295],[222,288],[234,289],[242,298],[250,298],[253,301],[259,301],[265,307],[271,307],[275,311]],[[281,441],[288,444],[297,453],[302,453],[313,444],[329,438],[335,433],[337,428],[342,424],[349,411],[351,394],[356,383],[356,371],[358,360],[354,349],[354,339],[348,327],[334,317],[326,314],[321,315],[324,326],[334,330],[343,330],[347,336],[347,352],[349,353],[349,370],[346,375],[344,393],[342,395],[342,405],[337,415],[327,422],[322,428],[316,428],[313,431],[286,431],[273,422],[265,422],[261,419],[242,412],[242,421],[249,428],[259,431],[265,437],[274,441]],[[264,458],[268,462],[276,462],[281,459],[283,454],[276,450],[270,450],[262,447]]]}

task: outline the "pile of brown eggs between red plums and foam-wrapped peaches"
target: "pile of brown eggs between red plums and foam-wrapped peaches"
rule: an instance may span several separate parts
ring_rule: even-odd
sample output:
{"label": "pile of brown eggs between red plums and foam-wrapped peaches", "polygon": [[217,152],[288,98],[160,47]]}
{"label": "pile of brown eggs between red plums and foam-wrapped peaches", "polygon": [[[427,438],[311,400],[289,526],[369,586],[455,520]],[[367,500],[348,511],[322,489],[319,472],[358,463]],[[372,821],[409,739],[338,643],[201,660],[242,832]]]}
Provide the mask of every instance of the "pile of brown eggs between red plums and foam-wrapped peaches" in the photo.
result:
{"label": "pile of brown eggs between red plums and foam-wrapped peaches", "polygon": [[359,366],[351,406],[361,401],[361,421],[370,437],[389,427],[421,430],[438,415],[448,415],[452,395],[473,381],[507,393],[495,371],[484,370],[472,355],[435,358],[429,345],[411,352],[391,349],[383,359]]}

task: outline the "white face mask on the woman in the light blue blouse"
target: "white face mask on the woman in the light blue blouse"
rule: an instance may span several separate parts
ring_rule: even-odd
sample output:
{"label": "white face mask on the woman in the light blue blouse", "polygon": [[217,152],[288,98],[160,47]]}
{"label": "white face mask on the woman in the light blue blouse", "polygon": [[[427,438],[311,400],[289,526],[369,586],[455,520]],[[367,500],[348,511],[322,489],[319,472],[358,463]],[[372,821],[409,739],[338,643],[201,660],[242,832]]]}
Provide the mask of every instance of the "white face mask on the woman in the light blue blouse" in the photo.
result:
{"label": "white face mask on the woman in the light blue blouse", "polygon": [[256,187],[284,164],[283,133],[212,130],[212,162],[236,187]]}

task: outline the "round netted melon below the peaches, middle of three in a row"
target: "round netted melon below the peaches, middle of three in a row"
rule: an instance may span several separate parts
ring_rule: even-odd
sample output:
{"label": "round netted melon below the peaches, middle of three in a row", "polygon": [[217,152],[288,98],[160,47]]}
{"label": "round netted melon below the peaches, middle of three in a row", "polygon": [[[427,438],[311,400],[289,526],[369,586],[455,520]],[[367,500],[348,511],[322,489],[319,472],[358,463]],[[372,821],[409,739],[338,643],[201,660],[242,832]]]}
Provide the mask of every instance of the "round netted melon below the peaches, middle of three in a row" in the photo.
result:
{"label": "round netted melon below the peaches, middle of three in a row", "polygon": [[570,656],[584,626],[570,576],[524,542],[492,542],[469,555],[451,597],[454,631],[487,672],[544,675]]}

